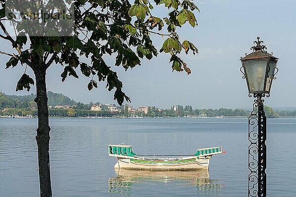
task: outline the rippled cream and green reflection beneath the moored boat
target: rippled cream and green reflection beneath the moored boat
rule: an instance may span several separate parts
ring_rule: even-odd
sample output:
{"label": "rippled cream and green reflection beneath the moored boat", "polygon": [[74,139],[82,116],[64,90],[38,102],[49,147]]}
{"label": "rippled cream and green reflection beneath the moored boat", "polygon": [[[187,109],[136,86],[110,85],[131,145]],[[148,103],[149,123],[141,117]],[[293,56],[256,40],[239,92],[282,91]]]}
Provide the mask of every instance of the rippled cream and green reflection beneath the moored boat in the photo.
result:
{"label": "rippled cream and green reflection beneath the moored boat", "polygon": [[[152,170],[115,170],[116,177],[109,178],[109,193],[120,196],[135,196],[132,193],[143,188],[147,196],[152,194],[149,189],[159,191],[164,189],[162,186],[176,190],[175,192],[193,192],[202,196],[221,196],[222,185],[219,180],[212,180],[209,170],[189,170],[189,171],[152,171]],[[187,188],[190,191],[188,191]],[[174,193],[175,193],[174,192]],[[176,193],[175,193],[176,194]],[[136,195],[137,196],[137,195]],[[141,195],[143,196],[143,195]],[[152,195],[153,196],[153,195]]]}

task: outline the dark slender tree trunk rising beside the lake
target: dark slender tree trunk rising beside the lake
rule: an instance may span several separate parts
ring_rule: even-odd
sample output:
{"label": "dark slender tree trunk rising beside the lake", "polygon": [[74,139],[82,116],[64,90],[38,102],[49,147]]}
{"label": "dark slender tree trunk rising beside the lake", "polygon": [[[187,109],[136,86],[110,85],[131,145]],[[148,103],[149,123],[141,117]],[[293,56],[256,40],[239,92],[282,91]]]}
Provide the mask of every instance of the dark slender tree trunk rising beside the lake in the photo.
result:
{"label": "dark slender tree trunk rising beside the lake", "polygon": [[[43,66],[40,66],[43,67]],[[45,66],[44,66],[45,67]],[[38,110],[38,128],[36,141],[38,146],[38,166],[40,197],[52,197],[49,165],[49,122],[46,94],[46,69],[37,68],[35,71]]]}

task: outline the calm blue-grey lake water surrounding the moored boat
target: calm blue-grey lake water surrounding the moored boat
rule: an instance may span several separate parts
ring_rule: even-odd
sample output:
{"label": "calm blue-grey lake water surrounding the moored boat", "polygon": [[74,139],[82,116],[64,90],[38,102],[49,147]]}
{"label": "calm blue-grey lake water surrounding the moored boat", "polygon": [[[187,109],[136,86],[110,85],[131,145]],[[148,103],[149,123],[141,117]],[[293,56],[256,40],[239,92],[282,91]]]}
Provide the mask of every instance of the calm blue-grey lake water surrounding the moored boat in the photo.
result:
{"label": "calm blue-grey lake water surrounding the moored boat", "polygon": [[[267,120],[267,196],[295,197],[296,119]],[[246,197],[248,119],[50,119],[55,197]],[[0,197],[38,197],[37,119],[0,118]],[[114,171],[107,145],[138,154],[222,146],[208,172]]]}

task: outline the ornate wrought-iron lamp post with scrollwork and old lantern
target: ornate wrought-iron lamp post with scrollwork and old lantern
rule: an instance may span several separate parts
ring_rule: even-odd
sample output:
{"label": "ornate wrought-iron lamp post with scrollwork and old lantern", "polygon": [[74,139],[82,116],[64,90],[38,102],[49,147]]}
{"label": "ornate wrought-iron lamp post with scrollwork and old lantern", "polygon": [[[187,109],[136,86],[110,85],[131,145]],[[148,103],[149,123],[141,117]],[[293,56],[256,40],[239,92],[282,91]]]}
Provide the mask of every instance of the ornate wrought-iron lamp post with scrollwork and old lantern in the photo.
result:
{"label": "ornate wrought-iron lamp post with scrollwork and old lantern", "polygon": [[[243,79],[246,79],[249,97],[255,98],[249,116],[249,197],[266,197],[266,116],[263,97],[269,97],[272,80],[276,79],[278,58],[266,51],[260,37],[254,41],[250,54],[241,57]],[[258,131],[256,129],[258,128]]]}

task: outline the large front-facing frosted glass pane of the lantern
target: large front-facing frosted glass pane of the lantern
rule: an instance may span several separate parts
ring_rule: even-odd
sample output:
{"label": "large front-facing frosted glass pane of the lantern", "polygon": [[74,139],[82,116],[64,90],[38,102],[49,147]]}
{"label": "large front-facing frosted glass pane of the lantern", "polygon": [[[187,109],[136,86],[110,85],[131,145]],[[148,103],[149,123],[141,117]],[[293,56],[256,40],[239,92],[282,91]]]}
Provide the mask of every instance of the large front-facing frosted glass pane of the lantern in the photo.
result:
{"label": "large front-facing frosted glass pane of the lantern", "polygon": [[249,93],[265,92],[264,82],[267,62],[268,60],[243,61]]}

